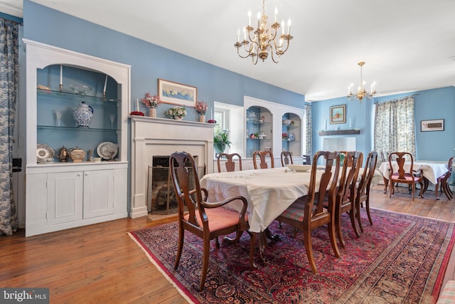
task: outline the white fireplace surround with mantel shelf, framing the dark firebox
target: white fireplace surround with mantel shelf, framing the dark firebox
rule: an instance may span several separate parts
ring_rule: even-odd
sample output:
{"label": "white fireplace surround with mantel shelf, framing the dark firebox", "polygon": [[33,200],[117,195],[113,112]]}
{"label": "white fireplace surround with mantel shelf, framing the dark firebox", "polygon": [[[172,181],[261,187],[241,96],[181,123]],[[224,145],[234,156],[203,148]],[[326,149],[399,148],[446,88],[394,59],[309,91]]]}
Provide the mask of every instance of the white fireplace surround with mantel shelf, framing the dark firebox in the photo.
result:
{"label": "white fireplace surround with mantel shelf, framing the dark firebox", "polygon": [[154,156],[185,151],[198,155],[198,167],[205,165],[206,172],[213,172],[213,127],[205,122],[131,116],[131,218],[147,215],[147,175]]}

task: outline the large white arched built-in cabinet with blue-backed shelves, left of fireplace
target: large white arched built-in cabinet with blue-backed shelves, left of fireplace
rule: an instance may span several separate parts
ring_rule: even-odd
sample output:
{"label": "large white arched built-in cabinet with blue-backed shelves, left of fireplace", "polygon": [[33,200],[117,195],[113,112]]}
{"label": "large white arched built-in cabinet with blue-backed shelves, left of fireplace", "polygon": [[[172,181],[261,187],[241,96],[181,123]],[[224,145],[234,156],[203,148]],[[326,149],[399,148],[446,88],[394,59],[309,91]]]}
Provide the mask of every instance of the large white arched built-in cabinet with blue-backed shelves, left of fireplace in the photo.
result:
{"label": "large white arched built-in cabinet with blue-backed shelves, left of fireplace", "polygon": [[[120,219],[127,213],[127,120],[130,67],[63,48],[26,43],[26,236]],[[63,66],[63,90],[58,67]],[[109,82],[109,92],[103,95]],[[100,80],[101,79],[101,80]],[[95,81],[96,80],[96,81]],[[38,83],[39,81],[39,83]],[[90,85],[87,94],[68,85]],[[38,88],[40,85],[40,88]],[[104,85],[104,88],[103,88]],[[73,111],[92,106],[90,127],[75,125]],[[55,123],[55,110],[63,112]],[[114,161],[37,162],[37,145],[58,154],[60,147],[92,150],[102,142],[118,145]]]}

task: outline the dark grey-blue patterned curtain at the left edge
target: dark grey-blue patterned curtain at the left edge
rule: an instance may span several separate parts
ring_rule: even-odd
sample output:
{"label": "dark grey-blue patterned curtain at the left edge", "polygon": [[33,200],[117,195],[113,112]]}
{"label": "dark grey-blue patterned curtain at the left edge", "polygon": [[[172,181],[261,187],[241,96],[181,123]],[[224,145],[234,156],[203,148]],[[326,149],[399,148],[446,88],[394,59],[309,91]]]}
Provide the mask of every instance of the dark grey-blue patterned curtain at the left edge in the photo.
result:
{"label": "dark grey-blue patterned curtain at the left edge", "polygon": [[13,197],[13,129],[18,88],[18,24],[0,19],[0,235],[17,229]]}

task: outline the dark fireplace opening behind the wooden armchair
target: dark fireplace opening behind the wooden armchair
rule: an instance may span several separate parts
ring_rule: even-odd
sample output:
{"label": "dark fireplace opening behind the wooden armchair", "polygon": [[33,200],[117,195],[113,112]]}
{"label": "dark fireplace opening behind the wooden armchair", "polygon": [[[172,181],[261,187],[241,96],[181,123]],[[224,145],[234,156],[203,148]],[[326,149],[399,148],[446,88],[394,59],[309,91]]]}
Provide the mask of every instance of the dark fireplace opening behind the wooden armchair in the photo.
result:
{"label": "dark fireplace opening behind the wooden armchair", "polygon": [[[156,155],[152,157],[148,170],[147,202],[151,214],[176,214],[178,203],[173,190],[171,175],[169,174],[170,155]],[[198,156],[193,156],[198,164]],[[188,162],[186,167],[191,167]],[[191,173],[192,174],[192,173]],[[205,174],[205,166],[198,167],[198,178]]]}

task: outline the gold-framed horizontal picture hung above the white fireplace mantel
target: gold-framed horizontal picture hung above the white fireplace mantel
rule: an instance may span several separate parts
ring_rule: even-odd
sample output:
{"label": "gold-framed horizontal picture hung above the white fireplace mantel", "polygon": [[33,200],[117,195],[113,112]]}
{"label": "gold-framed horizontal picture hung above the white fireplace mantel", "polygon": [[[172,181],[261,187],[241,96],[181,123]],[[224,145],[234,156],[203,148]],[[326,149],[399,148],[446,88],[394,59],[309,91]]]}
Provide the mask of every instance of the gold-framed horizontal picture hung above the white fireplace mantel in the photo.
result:
{"label": "gold-framed horizontal picture hung above the white fireplace mantel", "polygon": [[198,100],[198,88],[159,79],[158,95],[163,103],[194,108],[196,107],[196,100]]}

